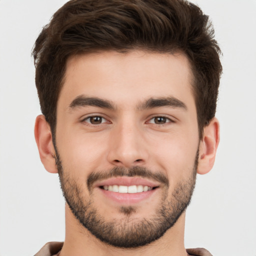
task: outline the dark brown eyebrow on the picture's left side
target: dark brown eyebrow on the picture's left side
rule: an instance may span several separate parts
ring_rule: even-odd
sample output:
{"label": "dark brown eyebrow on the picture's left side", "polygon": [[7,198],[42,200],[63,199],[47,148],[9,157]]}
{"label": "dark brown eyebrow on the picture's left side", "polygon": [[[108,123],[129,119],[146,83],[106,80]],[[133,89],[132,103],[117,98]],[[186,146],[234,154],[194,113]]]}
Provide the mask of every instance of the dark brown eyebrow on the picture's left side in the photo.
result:
{"label": "dark brown eyebrow on the picture's left side", "polygon": [[84,95],[79,95],[75,99],[73,99],[72,102],[69,104],[68,108],[73,110],[74,108],[83,106],[97,106],[111,110],[115,109],[114,104],[111,103],[109,100],[98,97],[87,97]]}

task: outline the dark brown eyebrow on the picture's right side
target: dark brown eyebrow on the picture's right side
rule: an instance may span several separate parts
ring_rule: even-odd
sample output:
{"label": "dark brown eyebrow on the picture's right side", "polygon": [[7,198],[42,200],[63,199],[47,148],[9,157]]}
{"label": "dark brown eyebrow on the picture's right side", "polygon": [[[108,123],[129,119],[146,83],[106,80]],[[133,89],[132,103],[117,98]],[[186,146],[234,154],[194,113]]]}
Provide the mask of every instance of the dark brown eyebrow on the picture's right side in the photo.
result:
{"label": "dark brown eyebrow on the picture's right side", "polygon": [[160,97],[160,98],[151,97],[145,100],[144,102],[142,102],[138,106],[138,109],[143,110],[143,109],[150,109],[150,108],[161,107],[161,106],[171,106],[174,108],[183,108],[184,110],[187,110],[187,106],[185,105],[185,103],[173,96]]}

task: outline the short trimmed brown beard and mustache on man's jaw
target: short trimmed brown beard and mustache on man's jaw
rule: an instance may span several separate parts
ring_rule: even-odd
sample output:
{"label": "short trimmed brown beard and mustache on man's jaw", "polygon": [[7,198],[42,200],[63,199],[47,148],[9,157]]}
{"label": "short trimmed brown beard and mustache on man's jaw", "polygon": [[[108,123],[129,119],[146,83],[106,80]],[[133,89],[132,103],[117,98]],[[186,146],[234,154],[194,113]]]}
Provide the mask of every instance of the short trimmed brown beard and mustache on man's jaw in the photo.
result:
{"label": "short trimmed brown beard and mustache on man's jaw", "polygon": [[[146,245],[160,238],[171,228],[190,203],[195,186],[198,164],[198,150],[190,176],[177,183],[168,197],[168,178],[161,172],[155,172],[145,167],[135,166],[130,169],[114,167],[108,171],[92,172],[87,178],[89,196],[84,194],[84,184],[79,184],[64,169],[55,147],[55,161],[58,169],[60,186],[63,196],[73,215],[79,223],[92,235],[104,243],[115,247],[135,248]],[[135,218],[135,206],[120,206],[122,218],[106,220],[99,214],[92,198],[92,184],[99,179],[113,176],[140,176],[157,180],[162,184],[162,196],[154,214],[147,218]]]}

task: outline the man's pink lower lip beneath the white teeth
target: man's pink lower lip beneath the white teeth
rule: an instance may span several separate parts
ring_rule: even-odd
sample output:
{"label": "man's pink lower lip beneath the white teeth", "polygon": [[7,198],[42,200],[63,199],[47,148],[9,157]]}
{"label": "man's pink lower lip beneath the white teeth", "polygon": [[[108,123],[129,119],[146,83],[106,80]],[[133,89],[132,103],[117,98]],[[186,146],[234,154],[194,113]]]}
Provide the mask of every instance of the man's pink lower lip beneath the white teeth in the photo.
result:
{"label": "man's pink lower lip beneath the white teeth", "polygon": [[149,196],[154,194],[158,188],[148,190],[145,192],[139,192],[139,193],[118,193],[118,192],[112,192],[108,191],[102,188],[98,188],[101,190],[101,192],[108,197],[111,200],[114,200],[120,204],[133,204],[138,203],[142,200],[147,199]]}

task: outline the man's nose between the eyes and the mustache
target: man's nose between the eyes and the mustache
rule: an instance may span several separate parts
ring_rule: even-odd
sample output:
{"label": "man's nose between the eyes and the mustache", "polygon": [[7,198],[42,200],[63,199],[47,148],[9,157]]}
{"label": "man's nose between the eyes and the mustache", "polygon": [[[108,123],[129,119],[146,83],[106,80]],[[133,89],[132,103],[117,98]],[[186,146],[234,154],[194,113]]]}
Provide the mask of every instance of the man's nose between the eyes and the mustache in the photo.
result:
{"label": "man's nose between the eyes and the mustache", "polygon": [[148,159],[143,129],[125,122],[111,131],[107,160],[115,166],[130,168],[143,165]]}

